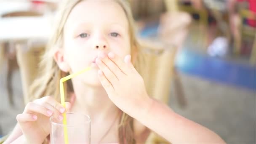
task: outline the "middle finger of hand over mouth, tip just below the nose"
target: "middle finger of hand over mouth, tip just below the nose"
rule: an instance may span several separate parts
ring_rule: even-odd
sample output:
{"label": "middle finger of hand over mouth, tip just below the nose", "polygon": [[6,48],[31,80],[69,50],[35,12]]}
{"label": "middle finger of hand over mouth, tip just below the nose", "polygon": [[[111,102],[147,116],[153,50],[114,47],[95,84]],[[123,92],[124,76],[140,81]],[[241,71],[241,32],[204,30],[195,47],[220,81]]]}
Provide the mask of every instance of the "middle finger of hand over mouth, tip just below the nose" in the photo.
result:
{"label": "middle finger of hand over mouth, tip just below the nose", "polygon": [[111,70],[111,72],[114,73],[114,75],[117,77],[117,80],[120,80],[120,78],[124,75],[122,70],[117,67],[117,65],[111,59],[109,59],[108,56],[102,55],[100,59]]}

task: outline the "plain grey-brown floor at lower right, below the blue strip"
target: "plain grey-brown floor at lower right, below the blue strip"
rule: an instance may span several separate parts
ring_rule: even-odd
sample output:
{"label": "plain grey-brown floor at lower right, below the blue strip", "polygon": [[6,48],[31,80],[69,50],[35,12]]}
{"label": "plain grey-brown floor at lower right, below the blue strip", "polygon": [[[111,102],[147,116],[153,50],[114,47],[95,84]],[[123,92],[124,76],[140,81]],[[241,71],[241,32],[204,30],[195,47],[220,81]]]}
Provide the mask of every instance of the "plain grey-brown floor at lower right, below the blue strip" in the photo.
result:
{"label": "plain grey-brown floor at lower right, below the blue strip", "polygon": [[169,105],[184,117],[218,133],[230,144],[256,143],[256,93],[243,88],[182,75],[187,107],[177,104],[175,90]]}

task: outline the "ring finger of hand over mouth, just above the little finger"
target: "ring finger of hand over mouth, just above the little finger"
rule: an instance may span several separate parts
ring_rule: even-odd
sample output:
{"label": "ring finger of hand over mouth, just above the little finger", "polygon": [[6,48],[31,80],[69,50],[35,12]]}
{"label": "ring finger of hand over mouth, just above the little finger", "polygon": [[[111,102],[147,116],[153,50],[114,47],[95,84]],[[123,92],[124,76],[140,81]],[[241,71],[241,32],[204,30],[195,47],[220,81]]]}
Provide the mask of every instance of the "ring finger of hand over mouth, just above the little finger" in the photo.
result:
{"label": "ring finger of hand over mouth, just above the little finger", "polygon": [[107,80],[114,85],[117,83],[118,79],[115,76],[115,74],[104,64],[99,58],[96,59],[96,64],[98,67],[102,70],[104,73],[104,76],[107,78]]}

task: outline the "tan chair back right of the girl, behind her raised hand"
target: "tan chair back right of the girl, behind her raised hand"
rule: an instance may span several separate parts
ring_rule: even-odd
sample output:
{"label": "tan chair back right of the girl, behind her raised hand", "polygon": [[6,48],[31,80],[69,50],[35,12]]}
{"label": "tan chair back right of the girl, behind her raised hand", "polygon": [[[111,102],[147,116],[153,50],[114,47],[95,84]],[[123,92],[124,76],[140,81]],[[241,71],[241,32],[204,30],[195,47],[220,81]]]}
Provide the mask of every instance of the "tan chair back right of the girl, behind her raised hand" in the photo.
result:
{"label": "tan chair back right of the girl, behind her raised hand", "polygon": [[[144,46],[146,46],[144,54],[147,60],[147,74],[142,74],[142,77],[145,80],[147,92],[154,99],[168,104],[171,81],[175,75],[174,61],[178,48],[166,49],[150,43],[144,43]],[[168,144],[168,141],[155,133],[151,133],[146,143]]]}

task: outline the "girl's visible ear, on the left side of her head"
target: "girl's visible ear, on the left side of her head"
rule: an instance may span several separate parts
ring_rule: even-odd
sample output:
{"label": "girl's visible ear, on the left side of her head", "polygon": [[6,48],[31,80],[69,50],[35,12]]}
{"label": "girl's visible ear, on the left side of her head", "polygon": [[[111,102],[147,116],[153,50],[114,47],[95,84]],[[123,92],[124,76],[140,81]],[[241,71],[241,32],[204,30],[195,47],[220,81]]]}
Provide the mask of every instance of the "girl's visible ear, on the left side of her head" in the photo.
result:
{"label": "girl's visible ear, on the left side of her head", "polygon": [[54,60],[56,61],[56,63],[58,64],[59,68],[63,72],[69,72],[70,71],[69,64],[64,59],[64,50],[63,50],[63,48],[58,48],[58,50],[54,53],[53,57],[54,57]]}

